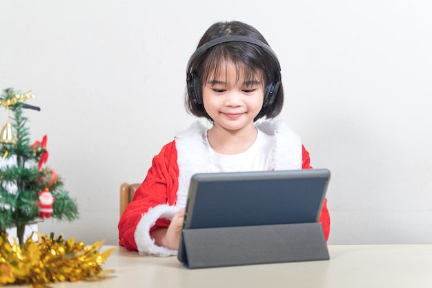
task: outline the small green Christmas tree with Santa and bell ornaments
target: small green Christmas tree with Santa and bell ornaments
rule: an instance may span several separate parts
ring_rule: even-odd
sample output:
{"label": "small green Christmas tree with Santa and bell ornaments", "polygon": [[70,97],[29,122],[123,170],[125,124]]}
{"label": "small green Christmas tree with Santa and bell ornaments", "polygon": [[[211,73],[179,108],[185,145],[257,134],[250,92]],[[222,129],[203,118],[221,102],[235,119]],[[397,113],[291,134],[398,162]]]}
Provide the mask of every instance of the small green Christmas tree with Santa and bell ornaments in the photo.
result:
{"label": "small green Christmas tree with Santa and bell ornaments", "polygon": [[78,217],[77,203],[63,190],[59,175],[44,166],[48,160],[46,135],[41,142],[30,144],[23,108],[40,109],[23,102],[33,97],[30,92],[19,94],[8,88],[0,98],[0,106],[8,113],[0,134],[0,236],[17,227],[21,246],[26,241],[26,225],[45,218],[72,221]]}

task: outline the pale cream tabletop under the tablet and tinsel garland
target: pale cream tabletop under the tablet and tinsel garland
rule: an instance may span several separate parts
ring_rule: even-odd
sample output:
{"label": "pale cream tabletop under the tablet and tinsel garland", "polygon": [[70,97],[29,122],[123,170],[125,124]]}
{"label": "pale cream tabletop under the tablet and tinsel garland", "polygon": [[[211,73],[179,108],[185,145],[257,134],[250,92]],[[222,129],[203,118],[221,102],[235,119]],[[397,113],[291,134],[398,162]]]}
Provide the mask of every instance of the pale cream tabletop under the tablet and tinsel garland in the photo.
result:
{"label": "pale cream tabletop under the tablet and tinsel garland", "polygon": [[330,260],[192,270],[115,248],[102,265],[115,269],[111,278],[50,287],[432,287],[432,244],[329,244]]}

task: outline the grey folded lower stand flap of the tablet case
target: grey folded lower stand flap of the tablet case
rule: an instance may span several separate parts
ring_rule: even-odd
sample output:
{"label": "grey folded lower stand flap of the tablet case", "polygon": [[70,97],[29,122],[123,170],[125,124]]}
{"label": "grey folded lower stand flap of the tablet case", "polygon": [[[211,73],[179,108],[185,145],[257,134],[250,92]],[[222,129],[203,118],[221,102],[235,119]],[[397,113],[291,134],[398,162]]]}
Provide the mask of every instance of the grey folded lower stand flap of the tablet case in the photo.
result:
{"label": "grey folded lower stand flap of the tablet case", "polygon": [[328,260],[320,222],[184,229],[190,269]]}

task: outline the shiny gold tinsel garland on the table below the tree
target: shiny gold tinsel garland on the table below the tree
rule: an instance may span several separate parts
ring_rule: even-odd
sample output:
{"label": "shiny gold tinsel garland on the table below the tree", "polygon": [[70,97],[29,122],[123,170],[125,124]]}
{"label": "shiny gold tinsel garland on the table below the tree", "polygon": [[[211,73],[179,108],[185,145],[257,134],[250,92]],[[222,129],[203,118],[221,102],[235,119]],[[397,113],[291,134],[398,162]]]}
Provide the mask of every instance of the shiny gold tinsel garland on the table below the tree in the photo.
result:
{"label": "shiny gold tinsel garland on the table below the tree", "polygon": [[101,269],[101,264],[115,248],[99,252],[103,242],[86,245],[74,238],[63,240],[39,234],[20,247],[17,241],[8,241],[8,235],[0,236],[0,285],[27,284],[46,287],[52,282],[97,280],[106,278],[113,270]]}

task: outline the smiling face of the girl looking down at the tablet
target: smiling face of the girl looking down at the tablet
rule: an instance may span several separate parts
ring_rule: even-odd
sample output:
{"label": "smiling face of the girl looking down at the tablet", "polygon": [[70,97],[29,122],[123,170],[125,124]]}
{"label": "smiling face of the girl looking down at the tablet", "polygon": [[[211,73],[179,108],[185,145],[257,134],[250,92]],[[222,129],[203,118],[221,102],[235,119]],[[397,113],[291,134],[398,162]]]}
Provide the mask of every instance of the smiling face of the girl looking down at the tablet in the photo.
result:
{"label": "smiling face of the girl looking down at the tablet", "polygon": [[213,119],[213,127],[228,131],[255,129],[253,119],[262,108],[264,80],[260,73],[255,73],[255,77],[246,81],[243,70],[227,60],[204,83],[203,104]]}

